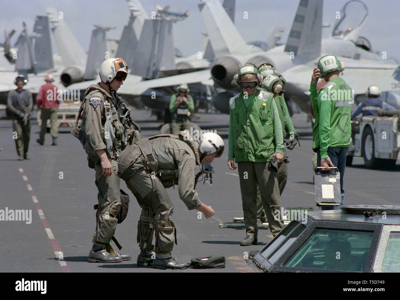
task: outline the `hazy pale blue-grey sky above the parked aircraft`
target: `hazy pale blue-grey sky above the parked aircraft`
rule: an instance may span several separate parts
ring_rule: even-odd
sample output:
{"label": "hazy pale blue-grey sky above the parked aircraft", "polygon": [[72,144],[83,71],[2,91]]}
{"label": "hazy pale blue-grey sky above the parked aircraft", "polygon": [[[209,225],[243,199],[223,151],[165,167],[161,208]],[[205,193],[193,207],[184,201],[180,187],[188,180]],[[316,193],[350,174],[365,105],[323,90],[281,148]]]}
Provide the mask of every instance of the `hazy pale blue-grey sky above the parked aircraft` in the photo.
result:
{"label": "hazy pale blue-grey sky above the parked aircraft", "polygon": [[[220,0],[222,2],[222,0]],[[325,0],[322,22],[331,24],[324,28],[323,37],[332,32],[337,11],[346,0]],[[361,36],[371,42],[372,50],[386,51],[388,57],[400,59],[400,1],[398,0],[364,0],[368,8],[368,19]],[[202,34],[205,26],[198,9],[199,0],[146,0],[142,6],[150,16],[156,11],[154,4],[170,6],[171,11],[185,12],[188,18],[173,25],[174,46],[179,48],[184,56],[202,51]],[[276,26],[284,26],[281,42],[285,43],[299,0],[236,0],[235,25],[246,42],[254,40],[265,41]],[[126,0],[2,0],[0,11],[0,30],[8,32],[16,30],[12,44],[16,42],[25,21],[32,31],[36,15],[46,15],[47,7],[54,7],[64,14],[64,21],[70,27],[85,51],[89,49],[93,24],[116,26],[108,32],[108,38],[120,38],[124,25],[129,18],[128,2]],[[244,18],[247,12],[248,18]],[[4,41],[0,34],[0,41]],[[57,52],[56,48],[54,48]]]}

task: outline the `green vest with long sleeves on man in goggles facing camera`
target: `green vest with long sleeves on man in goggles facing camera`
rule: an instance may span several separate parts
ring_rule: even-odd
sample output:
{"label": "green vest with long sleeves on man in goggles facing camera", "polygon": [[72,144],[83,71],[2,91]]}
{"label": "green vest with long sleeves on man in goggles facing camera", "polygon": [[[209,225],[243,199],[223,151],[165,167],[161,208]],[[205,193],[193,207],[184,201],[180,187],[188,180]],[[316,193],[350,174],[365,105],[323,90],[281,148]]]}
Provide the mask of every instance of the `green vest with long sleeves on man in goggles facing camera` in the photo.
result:
{"label": "green vest with long sleeves on man in goggles facing camera", "polygon": [[244,99],[243,92],[230,103],[228,159],[268,162],[275,152],[284,153],[282,124],[274,95],[258,90]]}

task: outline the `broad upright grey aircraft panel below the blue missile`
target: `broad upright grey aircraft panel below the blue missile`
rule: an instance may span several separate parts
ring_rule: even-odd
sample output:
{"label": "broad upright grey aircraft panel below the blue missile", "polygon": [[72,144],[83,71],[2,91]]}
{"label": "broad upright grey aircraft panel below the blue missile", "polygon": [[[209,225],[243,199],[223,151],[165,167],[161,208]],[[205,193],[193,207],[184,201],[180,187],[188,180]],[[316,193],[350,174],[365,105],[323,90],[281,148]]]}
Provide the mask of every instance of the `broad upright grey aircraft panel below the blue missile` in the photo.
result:
{"label": "broad upright grey aircraft panel below the blue missile", "polygon": [[174,37],[172,23],[167,20],[144,21],[140,40],[135,50],[132,73],[146,79],[154,79],[159,71],[175,68]]}

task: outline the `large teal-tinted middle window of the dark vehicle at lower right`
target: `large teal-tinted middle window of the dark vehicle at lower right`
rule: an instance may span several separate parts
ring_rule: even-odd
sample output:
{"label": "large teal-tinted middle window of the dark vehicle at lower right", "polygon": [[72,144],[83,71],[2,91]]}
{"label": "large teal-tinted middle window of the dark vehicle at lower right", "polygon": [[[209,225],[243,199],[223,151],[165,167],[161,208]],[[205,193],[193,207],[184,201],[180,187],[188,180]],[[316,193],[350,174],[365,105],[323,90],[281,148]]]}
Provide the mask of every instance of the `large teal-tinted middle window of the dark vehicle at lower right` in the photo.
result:
{"label": "large teal-tinted middle window of the dark vehicle at lower right", "polygon": [[374,232],[316,228],[286,267],[362,272]]}

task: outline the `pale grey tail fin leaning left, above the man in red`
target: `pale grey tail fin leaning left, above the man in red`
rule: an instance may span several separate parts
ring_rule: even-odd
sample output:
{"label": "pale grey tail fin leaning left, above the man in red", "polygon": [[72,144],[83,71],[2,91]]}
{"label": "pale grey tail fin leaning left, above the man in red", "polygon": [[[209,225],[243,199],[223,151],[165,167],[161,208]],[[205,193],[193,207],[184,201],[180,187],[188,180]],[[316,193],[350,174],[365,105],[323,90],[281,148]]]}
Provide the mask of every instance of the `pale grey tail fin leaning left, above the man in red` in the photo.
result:
{"label": "pale grey tail fin leaning left, above the man in red", "polygon": [[46,12],[53,26],[54,40],[56,41],[64,66],[77,66],[81,70],[84,70],[86,53],[82,46],[64,22],[64,19],[60,18],[59,12],[56,9],[47,8]]}

